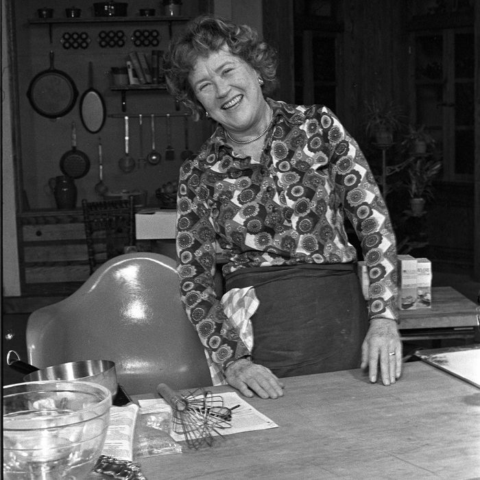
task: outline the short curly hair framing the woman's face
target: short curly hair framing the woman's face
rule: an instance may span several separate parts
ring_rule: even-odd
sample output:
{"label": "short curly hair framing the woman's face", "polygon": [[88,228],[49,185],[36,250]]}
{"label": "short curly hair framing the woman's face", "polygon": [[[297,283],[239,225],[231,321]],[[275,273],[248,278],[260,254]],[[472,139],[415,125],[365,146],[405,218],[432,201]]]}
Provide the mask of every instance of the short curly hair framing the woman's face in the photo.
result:
{"label": "short curly hair framing the woman's face", "polygon": [[259,72],[263,79],[263,95],[270,95],[276,88],[276,51],[259,40],[254,29],[218,16],[198,16],[171,41],[163,58],[169,93],[192,111],[195,120],[204,116],[205,110],[189,84],[189,73],[199,57],[206,57],[223,45]]}

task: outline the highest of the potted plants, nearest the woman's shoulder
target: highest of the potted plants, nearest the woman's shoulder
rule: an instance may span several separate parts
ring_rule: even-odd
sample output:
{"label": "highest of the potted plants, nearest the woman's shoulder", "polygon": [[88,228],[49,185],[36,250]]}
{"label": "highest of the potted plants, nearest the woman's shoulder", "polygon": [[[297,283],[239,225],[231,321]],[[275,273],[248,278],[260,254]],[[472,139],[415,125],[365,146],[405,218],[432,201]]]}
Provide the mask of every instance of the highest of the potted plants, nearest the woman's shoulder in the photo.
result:
{"label": "highest of the potted plants, nearest the woman's shoulder", "polygon": [[365,102],[365,133],[378,145],[392,145],[394,132],[402,126],[401,107],[393,101]]}

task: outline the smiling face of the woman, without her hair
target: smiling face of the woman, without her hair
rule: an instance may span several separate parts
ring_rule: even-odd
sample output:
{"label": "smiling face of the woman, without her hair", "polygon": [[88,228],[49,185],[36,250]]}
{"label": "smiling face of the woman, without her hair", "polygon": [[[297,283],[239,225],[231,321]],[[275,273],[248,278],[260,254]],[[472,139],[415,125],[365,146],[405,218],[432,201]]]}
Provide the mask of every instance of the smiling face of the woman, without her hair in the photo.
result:
{"label": "smiling face of the woman, without her hair", "polygon": [[225,45],[198,58],[189,82],[208,115],[232,134],[254,133],[265,118],[258,73]]}

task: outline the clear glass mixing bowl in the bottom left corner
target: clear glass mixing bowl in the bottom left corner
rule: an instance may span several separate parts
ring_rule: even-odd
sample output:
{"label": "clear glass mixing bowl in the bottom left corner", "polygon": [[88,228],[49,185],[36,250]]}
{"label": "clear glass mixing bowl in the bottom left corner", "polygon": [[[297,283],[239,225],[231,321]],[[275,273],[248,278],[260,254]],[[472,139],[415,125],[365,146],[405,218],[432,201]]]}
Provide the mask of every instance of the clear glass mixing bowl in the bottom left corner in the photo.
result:
{"label": "clear glass mixing bowl in the bottom left corner", "polygon": [[84,381],[3,387],[3,478],[82,479],[104,446],[112,396]]}

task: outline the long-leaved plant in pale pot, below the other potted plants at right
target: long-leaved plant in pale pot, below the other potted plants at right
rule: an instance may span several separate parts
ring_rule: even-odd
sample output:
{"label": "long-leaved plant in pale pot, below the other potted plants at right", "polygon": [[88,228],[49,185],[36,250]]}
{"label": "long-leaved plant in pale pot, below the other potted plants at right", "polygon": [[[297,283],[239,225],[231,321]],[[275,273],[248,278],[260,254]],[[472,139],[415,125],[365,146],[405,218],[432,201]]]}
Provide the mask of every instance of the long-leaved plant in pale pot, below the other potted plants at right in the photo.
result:
{"label": "long-leaved plant in pale pot, below the other potted plants at right", "polygon": [[427,199],[433,197],[433,180],[442,169],[442,161],[426,157],[414,157],[405,186],[410,195],[410,208],[414,216],[422,215]]}

